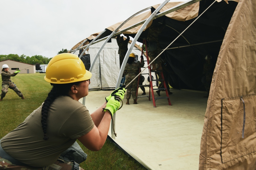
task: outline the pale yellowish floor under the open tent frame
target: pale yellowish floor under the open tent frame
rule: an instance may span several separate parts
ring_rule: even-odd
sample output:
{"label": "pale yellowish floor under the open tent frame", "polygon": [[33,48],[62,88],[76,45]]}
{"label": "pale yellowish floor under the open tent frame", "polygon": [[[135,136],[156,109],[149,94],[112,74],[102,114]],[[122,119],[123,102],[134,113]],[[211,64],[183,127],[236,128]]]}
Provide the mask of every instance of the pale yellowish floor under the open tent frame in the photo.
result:
{"label": "pale yellowish floor under the open tent frame", "polygon": [[[207,98],[201,91],[171,91],[172,106],[167,99],[156,100],[156,108],[147,97],[138,98],[138,104],[130,101],[130,105],[124,99],[123,107],[116,112],[115,141],[148,169],[195,170]],[[111,92],[89,91],[86,107],[93,112]],[[161,91],[161,95],[165,92]]]}

